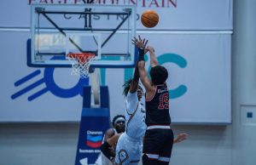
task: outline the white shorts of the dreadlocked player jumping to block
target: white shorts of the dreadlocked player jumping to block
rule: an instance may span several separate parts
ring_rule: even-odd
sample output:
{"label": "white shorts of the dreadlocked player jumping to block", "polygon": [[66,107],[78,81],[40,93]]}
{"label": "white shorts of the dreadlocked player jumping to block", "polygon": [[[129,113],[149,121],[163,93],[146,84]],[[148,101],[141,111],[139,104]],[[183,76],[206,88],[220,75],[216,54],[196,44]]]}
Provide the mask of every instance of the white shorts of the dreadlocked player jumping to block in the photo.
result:
{"label": "white shorts of the dreadlocked player jumping to block", "polygon": [[140,139],[132,139],[127,134],[121,134],[116,145],[115,163],[136,165],[141,158]]}

